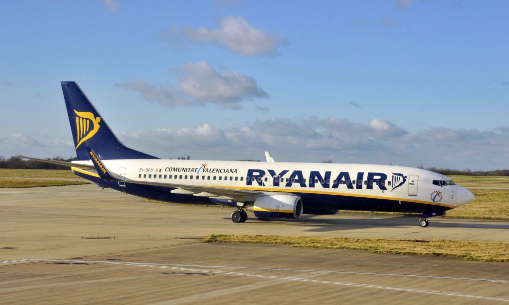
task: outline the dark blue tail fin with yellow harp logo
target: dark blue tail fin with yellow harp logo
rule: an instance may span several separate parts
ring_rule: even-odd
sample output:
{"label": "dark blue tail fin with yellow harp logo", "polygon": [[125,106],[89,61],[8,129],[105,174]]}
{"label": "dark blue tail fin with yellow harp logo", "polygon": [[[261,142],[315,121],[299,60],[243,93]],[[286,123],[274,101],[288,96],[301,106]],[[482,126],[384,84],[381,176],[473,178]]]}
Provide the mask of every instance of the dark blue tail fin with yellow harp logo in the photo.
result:
{"label": "dark blue tail fin with yellow harp logo", "polygon": [[158,159],[124,146],[75,82],[61,84],[78,160],[90,160],[86,147],[92,148],[102,160]]}

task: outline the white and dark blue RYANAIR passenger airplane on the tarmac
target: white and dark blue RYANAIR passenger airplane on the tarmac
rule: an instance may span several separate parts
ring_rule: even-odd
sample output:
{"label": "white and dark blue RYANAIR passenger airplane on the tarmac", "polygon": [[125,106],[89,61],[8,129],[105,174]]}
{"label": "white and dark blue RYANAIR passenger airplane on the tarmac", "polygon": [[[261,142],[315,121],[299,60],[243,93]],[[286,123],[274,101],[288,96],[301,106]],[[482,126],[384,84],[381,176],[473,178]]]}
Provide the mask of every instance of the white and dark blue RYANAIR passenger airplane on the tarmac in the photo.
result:
{"label": "white and dark blue RYANAIR passenger airplane on the tarmac", "polygon": [[77,160],[53,161],[102,188],[176,203],[235,208],[234,223],[252,212],[259,220],[334,215],[339,210],[420,213],[428,218],[470,202],[474,196],[448,177],[425,169],[370,165],[167,160],[122,144],[81,88],[61,82]]}

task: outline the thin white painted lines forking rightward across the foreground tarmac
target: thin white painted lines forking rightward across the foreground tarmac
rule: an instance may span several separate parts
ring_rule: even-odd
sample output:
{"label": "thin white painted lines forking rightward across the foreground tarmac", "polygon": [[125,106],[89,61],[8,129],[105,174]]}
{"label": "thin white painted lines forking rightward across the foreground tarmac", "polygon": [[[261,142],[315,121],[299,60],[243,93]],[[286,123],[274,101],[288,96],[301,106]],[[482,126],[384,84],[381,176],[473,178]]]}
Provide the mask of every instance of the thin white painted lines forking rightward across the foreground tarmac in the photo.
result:
{"label": "thin white painted lines forking rightward across the foreground tarmac", "polygon": [[37,261],[39,261],[39,262],[81,262],[81,263],[97,263],[97,264],[110,264],[110,265],[126,265],[126,266],[138,266],[138,267],[151,267],[151,268],[161,268],[161,269],[184,270],[184,271],[192,271],[192,272],[211,272],[211,273],[219,273],[219,274],[223,274],[223,275],[233,275],[233,276],[241,276],[241,277],[276,279],[276,280],[298,281],[298,282],[308,282],[308,283],[321,283],[321,284],[332,284],[332,285],[351,286],[351,287],[363,287],[363,288],[374,288],[374,289],[383,289],[383,290],[394,290],[394,291],[417,292],[417,293],[426,293],[426,294],[459,296],[459,297],[468,297],[468,298],[477,298],[477,299],[489,299],[489,300],[497,300],[497,301],[509,301],[509,298],[482,296],[482,295],[473,295],[473,294],[463,294],[463,293],[438,291],[438,290],[425,290],[425,289],[413,289],[413,288],[398,288],[398,287],[390,287],[390,286],[380,286],[380,285],[371,285],[371,284],[358,284],[358,283],[348,283],[348,282],[320,281],[320,280],[295,278],[295,277],[282,277],[282,276],[269,276],[269,275],[252,275],[250,273],[242,273],[242,272],[235,272],[235,271],[191,269],[191,268],[185,268],[185,267],[193,266],[193,267],[205,267],[205,268],[260,269],[260,270],[277,270],[277,271],[280,271],[280,270],[281,271],[307,271],[307,272],[328,272],[328,273],[348,273],[348,274],[351,273],[351,274],[358,274],[358,275],[384,275],[384,276],[416,277],[416,278],[436,278],[436,279],[454,279],[454,280],[470,280],[470,281],[489,281],[489,282],[497,282],[497,283],[504,283],[504,284],[508,284],[509,283],[509,281],[494,280],[494,279],[434,277],[434,276],[418,276],[418,275],[398,275],[398,274],[391,274],[391,273],[351,272],[351,271],[301,270],[301,269],[284,269],[284,268],[256,268],[256,267],[211,266],[211,265],[184,265],[184,264],[158,264],[158,263],[119,262],[119,261],[93,261],[93,260],[73,260],[73,259],[37,259],[37,258],[26,258],[26,259],[18,259],[18,260],[0,261],[0,264],[17,263],[17,262],[30,262],[30,261],[32,261],[32,262],[37,262]]}

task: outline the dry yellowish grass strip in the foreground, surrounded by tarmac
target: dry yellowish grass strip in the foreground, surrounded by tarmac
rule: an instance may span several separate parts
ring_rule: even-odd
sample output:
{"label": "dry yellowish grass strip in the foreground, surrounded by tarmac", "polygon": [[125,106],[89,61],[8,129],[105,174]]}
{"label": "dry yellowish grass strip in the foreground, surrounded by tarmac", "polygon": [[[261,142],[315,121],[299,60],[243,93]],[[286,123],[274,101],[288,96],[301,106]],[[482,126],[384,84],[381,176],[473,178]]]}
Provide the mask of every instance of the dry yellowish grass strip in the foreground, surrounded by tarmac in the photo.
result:
{"label": "dry yellowish grass strip in the foreground, surrounded by tarmac", "polygon": [[464,260],[509,262],[509,242],[463,240],[407,240],[386,238],[305,237],[212,234],[206,242],[261,243],[316,249],[366,250],[376,254],[461,257]]}

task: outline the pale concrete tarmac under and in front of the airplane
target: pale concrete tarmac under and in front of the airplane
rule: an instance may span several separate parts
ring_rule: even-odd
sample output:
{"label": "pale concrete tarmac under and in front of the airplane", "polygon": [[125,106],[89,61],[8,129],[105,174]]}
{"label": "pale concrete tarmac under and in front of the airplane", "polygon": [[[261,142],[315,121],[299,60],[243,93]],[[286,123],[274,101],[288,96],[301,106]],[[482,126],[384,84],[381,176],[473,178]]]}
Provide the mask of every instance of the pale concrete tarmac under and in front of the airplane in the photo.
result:
{"label": "pale concrete tarmac under and in front of the airplane", "polygon": [[95,185],[0,190],[0,303],[509,304],[509,265],[205,243],[209,234],[509,242],[509,222],[340,214],[230,220]]}

